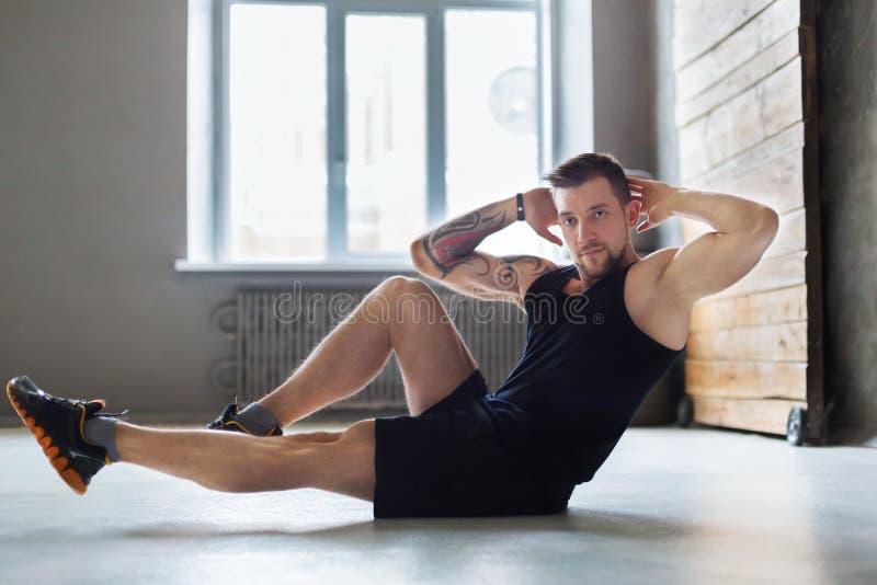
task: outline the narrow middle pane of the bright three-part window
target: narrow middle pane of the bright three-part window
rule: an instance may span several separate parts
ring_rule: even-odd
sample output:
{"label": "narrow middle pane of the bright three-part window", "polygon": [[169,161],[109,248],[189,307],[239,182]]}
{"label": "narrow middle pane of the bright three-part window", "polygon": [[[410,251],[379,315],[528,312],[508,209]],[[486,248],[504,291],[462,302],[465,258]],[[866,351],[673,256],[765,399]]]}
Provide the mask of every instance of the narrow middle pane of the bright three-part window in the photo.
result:
{"label": "narrow middle pane of the bright three-part window", "polygon": [[348,249],[405,253],[426,226],[426,23],[346,19]]}

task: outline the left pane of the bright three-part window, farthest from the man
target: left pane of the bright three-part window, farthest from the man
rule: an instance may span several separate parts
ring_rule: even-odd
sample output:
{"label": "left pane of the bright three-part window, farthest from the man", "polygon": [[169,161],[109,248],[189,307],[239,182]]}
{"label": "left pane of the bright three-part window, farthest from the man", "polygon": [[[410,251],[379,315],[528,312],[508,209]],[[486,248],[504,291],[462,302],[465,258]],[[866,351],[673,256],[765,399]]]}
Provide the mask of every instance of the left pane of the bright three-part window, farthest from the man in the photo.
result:
{"label": "left pane of the bright three-part window, farthest from the man", "polygon": [[231,260],[326,259],[326,13],[232,4]]}

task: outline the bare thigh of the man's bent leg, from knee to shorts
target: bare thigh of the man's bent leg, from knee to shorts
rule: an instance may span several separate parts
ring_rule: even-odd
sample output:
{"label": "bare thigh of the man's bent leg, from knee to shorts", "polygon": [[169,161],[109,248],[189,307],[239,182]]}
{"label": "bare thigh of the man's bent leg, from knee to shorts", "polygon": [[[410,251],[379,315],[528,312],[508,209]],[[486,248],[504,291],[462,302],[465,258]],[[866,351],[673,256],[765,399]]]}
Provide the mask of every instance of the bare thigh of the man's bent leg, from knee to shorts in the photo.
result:
{"label": "bare thigh of the man's bent leg, from knee to shorts", "polygon": [[426,284],[408,279],[396,297],[390,341],[412,416],[449,394],[477,364],[442,301]]}

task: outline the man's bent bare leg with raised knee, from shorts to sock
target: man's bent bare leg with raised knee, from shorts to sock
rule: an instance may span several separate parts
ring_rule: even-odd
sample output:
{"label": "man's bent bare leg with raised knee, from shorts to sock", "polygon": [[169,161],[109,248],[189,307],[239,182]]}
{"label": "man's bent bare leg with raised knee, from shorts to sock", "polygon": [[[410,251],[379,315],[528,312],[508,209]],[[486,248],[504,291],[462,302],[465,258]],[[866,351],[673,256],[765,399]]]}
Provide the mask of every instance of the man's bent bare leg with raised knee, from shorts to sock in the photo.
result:
{"label": "man's bent bare leg with raised knee, from shorts to sock", "polygon": [[[444,317],[444,319],[443,319]],[[438,402],[476,369],[432,289],[388,278],[276,390],[259,400],[282,425],[365,387],[396,351],[411,414]]]}

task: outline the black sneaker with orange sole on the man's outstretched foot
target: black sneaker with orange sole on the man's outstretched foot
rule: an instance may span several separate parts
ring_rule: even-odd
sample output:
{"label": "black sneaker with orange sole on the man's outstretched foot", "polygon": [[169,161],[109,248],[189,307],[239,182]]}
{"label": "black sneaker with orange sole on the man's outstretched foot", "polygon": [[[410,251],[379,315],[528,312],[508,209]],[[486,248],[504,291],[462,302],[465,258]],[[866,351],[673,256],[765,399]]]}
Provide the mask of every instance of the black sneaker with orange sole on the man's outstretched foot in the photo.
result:
{"label": "black sneaker with orange sole on the man's outstretched foot", "polygon": [[[99,416],[103,400],[70,400],[41,390],[26,376],[13,378],[7,394],[22,422],[36,437],[52,467],[78,494],[84,494],[91,478],[112,461],[106,449],[86,439],[83,423]],[[124,416],[128,411],[100,416]]]}

